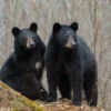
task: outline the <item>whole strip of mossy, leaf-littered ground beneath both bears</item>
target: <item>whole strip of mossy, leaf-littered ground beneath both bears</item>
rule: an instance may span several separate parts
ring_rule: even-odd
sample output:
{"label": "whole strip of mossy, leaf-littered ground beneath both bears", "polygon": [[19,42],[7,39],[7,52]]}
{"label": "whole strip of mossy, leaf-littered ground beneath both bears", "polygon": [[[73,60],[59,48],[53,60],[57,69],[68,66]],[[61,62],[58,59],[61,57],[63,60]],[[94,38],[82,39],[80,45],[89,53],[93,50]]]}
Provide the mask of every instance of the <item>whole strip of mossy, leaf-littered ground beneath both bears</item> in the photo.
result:
{"label": "whole strip of mossy, leaf-littered ground beneath both bears", "polygon": [[44,103],[31,101],[0,81],[0,111],[104,111],[101,108],[91,108],[83,103],[74,107],[69,100]]}

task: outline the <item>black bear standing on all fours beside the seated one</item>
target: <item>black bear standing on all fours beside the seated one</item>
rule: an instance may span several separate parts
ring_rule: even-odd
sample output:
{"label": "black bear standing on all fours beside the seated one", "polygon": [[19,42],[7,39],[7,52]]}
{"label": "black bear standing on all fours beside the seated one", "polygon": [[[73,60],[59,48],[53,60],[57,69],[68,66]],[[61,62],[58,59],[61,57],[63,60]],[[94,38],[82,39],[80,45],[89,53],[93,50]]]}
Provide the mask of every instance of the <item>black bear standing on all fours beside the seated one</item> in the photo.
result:
{"label": "black bear standing on all fours beside the seated one", "polygon": [[49,97],[57,100],[57,88],[61,98],[71,99],[73,104],[81,105],[82,89],[89,105],[98,102],[97,61],[87,43],[77,36],[78,22],[71,26],[54,23],[44,53]]}

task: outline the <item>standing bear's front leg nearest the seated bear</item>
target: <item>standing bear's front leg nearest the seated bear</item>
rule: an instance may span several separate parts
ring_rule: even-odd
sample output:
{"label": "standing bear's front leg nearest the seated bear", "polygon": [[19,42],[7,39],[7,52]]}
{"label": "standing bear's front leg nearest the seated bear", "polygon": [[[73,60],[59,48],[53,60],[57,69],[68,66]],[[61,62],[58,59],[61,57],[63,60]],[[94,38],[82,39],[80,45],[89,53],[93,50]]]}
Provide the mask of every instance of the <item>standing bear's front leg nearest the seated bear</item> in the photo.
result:
{"label": "standing bear's front leg nearest the seated bear", "polygon": [[52,68],[47,70],[47,77],[49,85],[49,95],[47,101],[57,101],[57,78],[54,71],[52,71]]}

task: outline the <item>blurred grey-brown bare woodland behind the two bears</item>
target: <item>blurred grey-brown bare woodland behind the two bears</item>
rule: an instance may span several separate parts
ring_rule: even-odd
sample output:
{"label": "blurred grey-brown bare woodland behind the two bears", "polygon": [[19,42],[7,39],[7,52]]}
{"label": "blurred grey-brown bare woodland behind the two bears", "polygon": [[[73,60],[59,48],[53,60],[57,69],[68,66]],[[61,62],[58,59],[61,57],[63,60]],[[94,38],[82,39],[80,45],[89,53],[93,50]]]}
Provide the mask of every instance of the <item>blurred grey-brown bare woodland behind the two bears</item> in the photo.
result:
{"label": "blurred grey-brown bare woodland behind the two bears", "polygon": [[47,43],[54,22],[73,21],[98,61],[99,105],[111,111],[111,0],[0,0],[0,67],[13,51],[12,27],[37,22]]}

